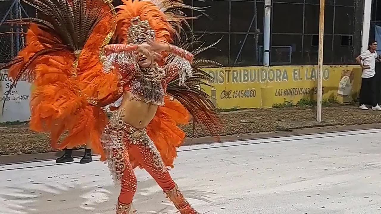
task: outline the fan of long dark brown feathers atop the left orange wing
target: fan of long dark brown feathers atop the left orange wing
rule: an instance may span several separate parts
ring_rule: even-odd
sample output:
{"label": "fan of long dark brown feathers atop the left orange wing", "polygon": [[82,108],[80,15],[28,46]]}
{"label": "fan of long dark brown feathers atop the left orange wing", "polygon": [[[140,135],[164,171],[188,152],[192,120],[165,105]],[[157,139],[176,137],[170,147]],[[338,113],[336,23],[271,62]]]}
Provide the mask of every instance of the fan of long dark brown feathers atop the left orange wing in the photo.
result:
{"label": "fan of long dark brown feathers atop the left orange wing", "polygon": [[[4,24],[29,25],[43,30],[44,34],[34,35],[41,48],[30,56],[16,57],[11,62],[0,66],[7,69],[17,66],[16,73],[10,72],[16,85],[22,75],[29,81],[34,79],[34,61],[53,52],[69,52],[73,59],[78,58],[80,51],[92,30],[107,14],[110,14],[109,0],[23,0],[38,11],[39,18],[23,18],[5,21]],[[5,99],[7,100],[7,99]],[[3,104],[4,108],[4,104]]]}

